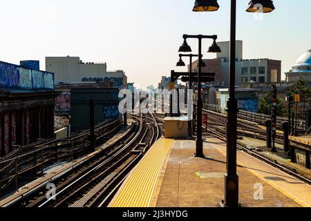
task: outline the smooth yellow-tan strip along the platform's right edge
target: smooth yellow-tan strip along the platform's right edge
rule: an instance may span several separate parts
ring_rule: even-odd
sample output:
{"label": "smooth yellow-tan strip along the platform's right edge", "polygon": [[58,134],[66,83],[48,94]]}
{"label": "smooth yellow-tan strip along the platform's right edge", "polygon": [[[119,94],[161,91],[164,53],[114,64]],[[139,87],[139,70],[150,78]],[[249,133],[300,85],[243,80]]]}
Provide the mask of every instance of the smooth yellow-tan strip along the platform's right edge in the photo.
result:
{"label": "smooth yellow-tan strip along the platform's right edge", "polygon": [[[223,153],[223,155],[226,155],[226,153],[220,148],[218,148],[218,151]],[[256,175],[256,177],[267,182],[267,184],[270,184],[301,206],[311,207],[311,186],[309,184],[297,180],[295,177],[292,177],[291,175],[288,175],[287,173],[284,173],[283,171],[241,151],[238,151],[237,162],[249,172]],[[274,175],[271,177],[271,174]]]}

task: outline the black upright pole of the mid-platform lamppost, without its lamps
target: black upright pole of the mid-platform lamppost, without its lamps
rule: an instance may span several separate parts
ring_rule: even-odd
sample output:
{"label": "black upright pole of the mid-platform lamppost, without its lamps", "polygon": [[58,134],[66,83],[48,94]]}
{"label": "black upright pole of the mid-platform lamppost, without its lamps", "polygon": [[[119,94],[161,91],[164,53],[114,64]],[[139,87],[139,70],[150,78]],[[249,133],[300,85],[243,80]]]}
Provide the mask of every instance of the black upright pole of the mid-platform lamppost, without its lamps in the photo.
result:
{"label": "black upright pole of the mid-platform lamppost, without its lamps", "polygon": [[196,122],[196,157],[204,157],[202,141],[202,99],[201,99],[201,59],[202,59],[202,35],[198,36],[198,99],[196,102],[197,122]]}

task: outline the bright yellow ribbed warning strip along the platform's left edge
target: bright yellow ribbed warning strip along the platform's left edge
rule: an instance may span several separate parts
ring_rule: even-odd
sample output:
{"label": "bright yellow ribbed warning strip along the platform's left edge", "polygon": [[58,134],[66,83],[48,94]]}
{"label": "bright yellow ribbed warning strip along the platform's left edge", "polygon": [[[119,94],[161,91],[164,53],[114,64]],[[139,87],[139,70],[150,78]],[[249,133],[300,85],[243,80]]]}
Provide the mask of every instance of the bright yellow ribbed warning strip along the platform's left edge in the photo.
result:
{"label": "bright yellow ribbed warning strip along the platform's left edge", "polygon": [[158,176],[173,139],[161,138],[144,155],[122,184],[109,207],[149,207]]}

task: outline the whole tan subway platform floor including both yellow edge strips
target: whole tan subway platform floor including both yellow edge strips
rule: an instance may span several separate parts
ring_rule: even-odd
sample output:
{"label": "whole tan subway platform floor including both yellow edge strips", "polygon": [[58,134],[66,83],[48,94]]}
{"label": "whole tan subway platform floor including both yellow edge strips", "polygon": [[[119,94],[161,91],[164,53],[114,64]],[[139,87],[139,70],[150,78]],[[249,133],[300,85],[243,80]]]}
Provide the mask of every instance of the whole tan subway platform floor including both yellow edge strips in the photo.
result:
{"label": "whole tan subway platform floor including both yellow edge strips", "polygon": [[[224,196],[226,144],[204,143],[205,158],[194,157],[194,140],[161,138],[127,177],[109,206],[219,206]],[[311,206],[311,186],[238,151],[242,206]],[[262,194],[258,190],[262,187]]]}

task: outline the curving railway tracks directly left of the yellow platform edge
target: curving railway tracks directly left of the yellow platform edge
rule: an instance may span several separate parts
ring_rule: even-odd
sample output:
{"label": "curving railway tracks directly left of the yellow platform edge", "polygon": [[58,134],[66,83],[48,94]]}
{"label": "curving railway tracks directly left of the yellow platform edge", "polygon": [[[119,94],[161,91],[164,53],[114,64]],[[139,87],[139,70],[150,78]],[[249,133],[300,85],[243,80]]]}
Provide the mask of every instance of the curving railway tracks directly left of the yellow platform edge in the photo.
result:
{"label": "curving railway tracks directly left of the yellow platform edge", "polygon": [[[106,146],[93,159],[54,180],[56,194],[46,198],[38,189],[10,206],[23,207],[93,207],[103,205],[113,196],[127,174],[149,147],[162,135],[156,117],[131,115],[136,123],[120,140]],[[106,201],[105,201],[106,200]]]}

